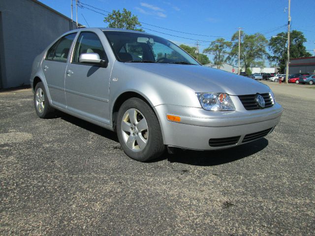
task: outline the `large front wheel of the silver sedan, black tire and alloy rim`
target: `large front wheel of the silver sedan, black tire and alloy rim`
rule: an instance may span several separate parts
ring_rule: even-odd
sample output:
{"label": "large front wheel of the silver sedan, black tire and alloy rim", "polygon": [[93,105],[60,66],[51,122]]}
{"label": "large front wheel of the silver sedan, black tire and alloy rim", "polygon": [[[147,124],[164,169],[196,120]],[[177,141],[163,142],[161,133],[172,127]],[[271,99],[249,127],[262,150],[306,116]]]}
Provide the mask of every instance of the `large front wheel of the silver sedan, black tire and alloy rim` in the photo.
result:
{"label": "large front wheel of the silver sedan, black tire and alloy rim", "polygon": [[[130,116],[127,114],[134,111],[136,112],[136,121],[132,122]],[[139,124],[143,118],[146,121],[147,129],[146,131],[139,131],[140,127],[138,127],[137,124]],[[130,132],[123,130],[123,122],[127,124],[127,128],[130,127],[128,126],[129,124],[132,126],[130,127]],[[124,127],[125,130],[126,127]],[[142,134],[142,132],[145,133]],[[120,107],[117,118],[117,136],[126,155],[137,161],[148,161],[158,158],[165,150],[158,118],[153,109],[140,98],[130,98]],[[131,147],[127,146],[127,140],[129,140],[129,138],[133,139],[133,141],[129,142],[129,146]],[[137,143],[138,138],[146,140],[144,147],[140,147],[141,145]],[[132,142],[133,144],[131,144]]]}

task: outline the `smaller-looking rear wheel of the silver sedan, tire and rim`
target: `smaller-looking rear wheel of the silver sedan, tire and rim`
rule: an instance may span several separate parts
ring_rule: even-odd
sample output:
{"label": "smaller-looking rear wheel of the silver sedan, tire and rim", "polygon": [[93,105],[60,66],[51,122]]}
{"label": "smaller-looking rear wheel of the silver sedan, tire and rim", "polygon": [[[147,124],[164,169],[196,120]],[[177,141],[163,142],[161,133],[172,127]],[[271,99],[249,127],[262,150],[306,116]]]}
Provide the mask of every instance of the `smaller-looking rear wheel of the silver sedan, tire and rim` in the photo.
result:
{"label": "smaller-looking rear wheel of the silver sedan, tire and rim", "polygon": [[55,115],[55,109],[49,104],[46,94],[43,83],[38,82],[34,89],[34,108],[37,116],[43,119],[51,118]]}

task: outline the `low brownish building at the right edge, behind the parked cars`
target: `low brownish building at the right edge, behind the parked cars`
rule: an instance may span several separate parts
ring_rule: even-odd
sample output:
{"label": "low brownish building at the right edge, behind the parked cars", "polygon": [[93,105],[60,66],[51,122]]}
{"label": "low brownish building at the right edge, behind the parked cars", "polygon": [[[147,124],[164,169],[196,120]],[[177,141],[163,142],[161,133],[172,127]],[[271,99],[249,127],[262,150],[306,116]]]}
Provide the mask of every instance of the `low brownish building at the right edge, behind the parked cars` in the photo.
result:
{"label": "low brownish building at the right edge, behind the parked cars", "polygon": [[315,73],[315,57],[290,59],[289,74]]}

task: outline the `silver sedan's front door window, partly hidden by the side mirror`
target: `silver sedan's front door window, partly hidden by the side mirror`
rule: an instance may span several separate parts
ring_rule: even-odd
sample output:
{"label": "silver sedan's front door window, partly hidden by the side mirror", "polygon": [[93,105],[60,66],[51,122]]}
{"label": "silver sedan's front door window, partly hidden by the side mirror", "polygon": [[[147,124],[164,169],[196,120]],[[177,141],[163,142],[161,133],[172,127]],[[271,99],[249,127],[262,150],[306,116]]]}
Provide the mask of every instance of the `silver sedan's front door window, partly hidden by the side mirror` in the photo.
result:
{"label": "silver sedan's front door window, partly hidden by the side mirror", "polygon": [[75,45],[72,62],[80,63],[79,58],[82,53],[97,53],[99,59],[107,59],[102,43],[98,36],[93,32],[80,33]]}

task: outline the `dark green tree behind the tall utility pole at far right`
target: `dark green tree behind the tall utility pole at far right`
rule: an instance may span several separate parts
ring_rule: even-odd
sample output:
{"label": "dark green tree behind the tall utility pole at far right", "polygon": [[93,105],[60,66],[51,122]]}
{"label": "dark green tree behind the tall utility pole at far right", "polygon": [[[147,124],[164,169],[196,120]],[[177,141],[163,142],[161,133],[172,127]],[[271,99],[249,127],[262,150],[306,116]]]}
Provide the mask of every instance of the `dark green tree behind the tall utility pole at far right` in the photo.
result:
{"label": "dark green tree behind the tall utility pole at far right", "polygon": [[[287,60],[287,33],[281,32],[278,37],[272,37],[269,40],[269,50],[273,56],[268,59],[280,67],[281,73],[284,73],[284,68]],[[303,43],[306,42],[303,32],[292,30],[290,32],[290,58],[311,57],[312,55],[306,51]]]}

